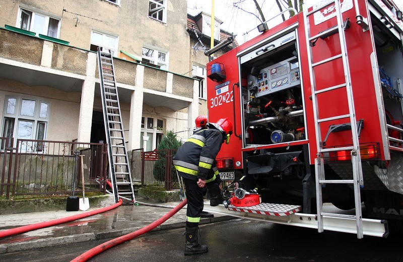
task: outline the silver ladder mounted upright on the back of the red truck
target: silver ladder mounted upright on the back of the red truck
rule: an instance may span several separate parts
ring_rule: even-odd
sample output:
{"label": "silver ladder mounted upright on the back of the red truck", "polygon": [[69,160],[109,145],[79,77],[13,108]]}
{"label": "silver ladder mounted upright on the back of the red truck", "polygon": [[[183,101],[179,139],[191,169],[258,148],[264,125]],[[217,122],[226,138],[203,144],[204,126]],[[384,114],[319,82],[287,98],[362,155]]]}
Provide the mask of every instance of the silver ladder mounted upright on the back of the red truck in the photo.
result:
{"label": "silver ladder mounted upright on the back of the red truck", "polygon": [[[309,24],[309,17],[316,12],[320,12],[323,8],[327,8],[334,4],[335,16],[337,17],[337,26],[331,27],[323,32],[318,33],[317,35],[311,36],[310,30],[315,27],[315,25]],[[312,11],[308,12],[307,7],[304,7],[304,20],[305,20],[305,35],[307,39],[307,50],[308,50],[308,64],[310,70],[310,80],[311,80],[311,90],[312,90],[312,104],[314,111],[314,119],[315,119],[315,131],[316,131],[316,145],[317,145],[317,158],[315,158],[315,173],[316,173],[316,205],[317,205],[317,223],[318,223],[318,232],[323,232],[323,217],[335,217],[341,219],[349,219],[356,220],[357,225],[357,238],[363,237],[363,224],[362,224],[362,211],[361,211],[361,195],[360,195],[360,186],[363,185],[363,175],[362,175],[362,166],[361,166],[361,157],[360,157],[360,147],[358,142],[358,130],[357,130],[357,120],[355,118],[355,109],[353,102],[353,92],[351,88],[351,76],[350,76],[350,68],[348,63],[347,56],[347,46],[346,46],[346,38],[345,38],[345,27],[343,23],[342,11],[340,0],[332,0],[326,1],[325,4],[313,8]],[[347,22],[347,21],[346,21]],[[311,28],[310,28],[311,27]],[[314,52],[314,43],[319,39],[331,34],[339,33],[340,45],[341,45],[341,53],[334,55],[332,57],[328,57],[324,60],[313,62]],[[327,87],[321,90],[317,90],[317,83],[315,80],[315,72],[314,69],[319,67],[321,64],[325,64],[334,60],[342,59],[343,61],[343,69],[345,75],[345,83]],[[325,92],[332,92],[337,89],[344,88],[347,92],[349,113],[344,115],[335,115],[327,118],[320,118],[320,112],[318,110],[318,95]],[[323,105],[322,105],[323,106]],[[320,124],[323,122],[329,122],[337,119],[349,119],[351,124],[351,132],[352,132],[352,144],[353,146],[338,146],[335,148],[323,148],[323,140],[321,138],[321,126]],[[341,179],[341,180],[326,180],[324,174],[324,161],[323,154],[328,152],[335,152],[339,150],[349,150],[351,151],[351,162],[353,169],[353,179]],[[333,213],[324,213],[323,212],[323,200],[322,200],[322,186],[326,183],[343,183],[343,184],[352,184],[354,188],[354,198],[355,198],[355,215],[341,215],[341,214],[333,214]]]}

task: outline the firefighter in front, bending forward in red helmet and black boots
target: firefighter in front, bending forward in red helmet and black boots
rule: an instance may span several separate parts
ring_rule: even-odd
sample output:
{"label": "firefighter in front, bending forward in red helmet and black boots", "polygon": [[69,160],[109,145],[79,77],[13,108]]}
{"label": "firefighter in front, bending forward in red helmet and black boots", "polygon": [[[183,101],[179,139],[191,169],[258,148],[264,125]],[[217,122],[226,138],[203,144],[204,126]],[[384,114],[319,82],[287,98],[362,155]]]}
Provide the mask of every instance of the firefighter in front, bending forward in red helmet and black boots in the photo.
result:
{"label": "firefighter in front, bending forward in red helmet and black boots", "polygon": [[[195,132],[177,151],[173,164],[183,178],[186,188],[186,243],[185,255],[201,254],[209,251],[207,245],[197,241],[198,223],[203,210],[205,187],[209,189],[210,205],[217,206],[224,200],[221,195],[218,170],[213,164],[221,145],[229,143],[233,125],[228,118],[217,123],[208,123],[207,128]],[[215,168],[216,169],[216,168]]]}

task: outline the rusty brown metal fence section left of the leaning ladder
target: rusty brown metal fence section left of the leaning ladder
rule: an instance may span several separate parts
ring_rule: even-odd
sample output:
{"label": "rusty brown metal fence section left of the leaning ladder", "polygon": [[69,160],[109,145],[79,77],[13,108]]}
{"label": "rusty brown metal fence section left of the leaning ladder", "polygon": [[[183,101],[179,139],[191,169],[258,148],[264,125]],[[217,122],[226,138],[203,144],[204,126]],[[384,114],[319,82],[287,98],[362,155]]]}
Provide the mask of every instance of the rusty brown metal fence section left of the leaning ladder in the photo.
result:
{"label": "rusty brown metal fence section left of the leaning ladder", "polygon": [[[81,155],[86,191],[102,191],[106,179],[107,148],[104,144],[0,138],[2,180],[0,195],[71,194],[82,191]],[[4,146],[6,145],[6,146]],[[8,146],[7,146],[8,145]],[[76,153],[76,154],[75,154]]]}

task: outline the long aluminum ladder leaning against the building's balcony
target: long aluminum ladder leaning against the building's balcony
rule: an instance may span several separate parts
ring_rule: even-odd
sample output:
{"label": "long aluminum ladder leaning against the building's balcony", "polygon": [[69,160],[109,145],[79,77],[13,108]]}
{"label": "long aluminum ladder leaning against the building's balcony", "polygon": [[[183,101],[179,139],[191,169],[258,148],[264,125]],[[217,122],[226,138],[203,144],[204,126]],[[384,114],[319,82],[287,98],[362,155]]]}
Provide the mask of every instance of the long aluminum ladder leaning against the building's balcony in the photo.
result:
{"label": "long aluminum ladder leaning against the building's balcony", "polygon": [[108,142],[109,176],[112,182],[115,203],[118,202],[120,196],[131,199],[134,204],[136,202],[135,192],[131,181],[126,142],[123,135],[112,55],[110,50],[103,52],[98,48],[97,56],[105,133]]}

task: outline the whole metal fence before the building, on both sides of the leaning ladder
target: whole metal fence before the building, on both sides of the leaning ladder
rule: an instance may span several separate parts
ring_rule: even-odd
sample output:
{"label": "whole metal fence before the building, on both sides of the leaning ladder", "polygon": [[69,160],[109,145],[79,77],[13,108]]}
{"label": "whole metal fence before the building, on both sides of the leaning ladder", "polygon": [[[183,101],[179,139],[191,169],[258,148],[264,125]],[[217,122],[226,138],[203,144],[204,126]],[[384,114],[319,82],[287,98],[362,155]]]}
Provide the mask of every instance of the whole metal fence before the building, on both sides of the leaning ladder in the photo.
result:
{"label": "whole metal fence before the building, on both sides of the leaning ladder", "polygon": [[[80,194],[81,157],[76,155],[83,158],[85,190],[105,188],[99,181],[107,179],[106,144],[18,139],[13,147],[13,139],[0,138],[0,142],[0,196],[72,194],[75,180],[76,194]],[[132,181],[159,189],[179,189],[172,164],[175,154],[176,150],[132,150]]]}

